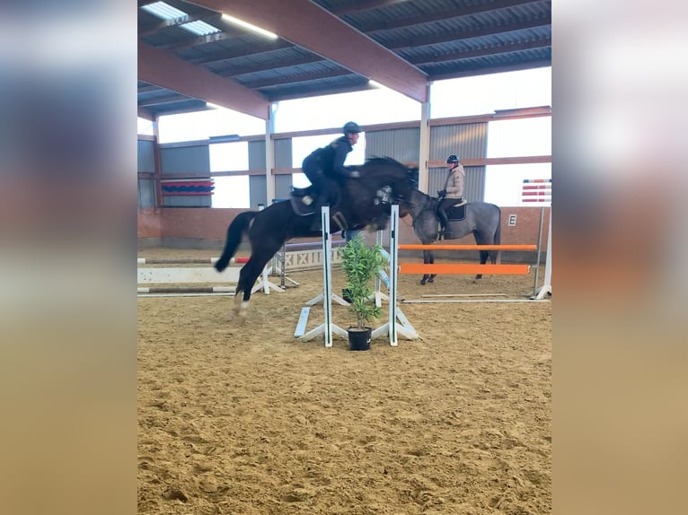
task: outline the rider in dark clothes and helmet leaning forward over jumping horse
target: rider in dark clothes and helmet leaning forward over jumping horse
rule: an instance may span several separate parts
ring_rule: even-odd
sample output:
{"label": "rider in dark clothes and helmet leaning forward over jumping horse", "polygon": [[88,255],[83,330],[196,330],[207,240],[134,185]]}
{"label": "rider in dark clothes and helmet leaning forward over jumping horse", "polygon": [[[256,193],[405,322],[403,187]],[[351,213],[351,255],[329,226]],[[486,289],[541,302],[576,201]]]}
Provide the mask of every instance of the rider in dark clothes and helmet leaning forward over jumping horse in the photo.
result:
{"label": "rider in dark clothes and helmet leaning forward over jumping horse", "polygon": [[357,171],[348,170],[344,166],[344,161],[347,154],[354,149],[353,145],[357,144],[361,127],[355,122],[347,122],[341,132],[344,135],[327,146],[315,149],[304,159],[302,165],[304,174],[313,184],[317,195],[313,205],[315,214],[311,225],[312,231],[321,231],[321,207],[337,200],[344,179],[359,177]]}

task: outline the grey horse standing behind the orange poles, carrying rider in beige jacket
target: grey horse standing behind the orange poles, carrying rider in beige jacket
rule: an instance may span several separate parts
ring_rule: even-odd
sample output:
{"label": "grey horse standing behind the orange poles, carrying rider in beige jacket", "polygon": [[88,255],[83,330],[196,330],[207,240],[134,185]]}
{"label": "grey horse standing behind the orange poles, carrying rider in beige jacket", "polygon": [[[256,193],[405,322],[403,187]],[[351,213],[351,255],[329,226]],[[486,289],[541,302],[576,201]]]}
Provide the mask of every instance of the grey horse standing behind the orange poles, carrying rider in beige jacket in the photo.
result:
{"label": "grey horse standing behind the orange poles, carrying rider in beige jacket", "polygon": [[[438,199],[413,189],[410,196],[410,203],[407,205],[409,214],[413,219],[413,232],[423,245],[429,245],[437,241],[439,232],[439,220],[437,218]],[[478,245],[498,245],[501,234],[501,209],[498,205],[488,204],[487,202],[469,202],[465,206],[465,217],[463,220],[454,220],[449,216],[449,223],[446,225],[445,240],[458,240],[473,233],[475,242]],[[459,208],[461,209],[461,208]],[[487,263],[488,257],[494,265],[498,260],[498,250],[481,250],[481,265]],[[435,257],[432,250],[423,250],[423,264],[434,263]],[[476,279],[481,279],[482,275],[476,275]],[[435,274],[423,275],[420,284],[432,283]]]}

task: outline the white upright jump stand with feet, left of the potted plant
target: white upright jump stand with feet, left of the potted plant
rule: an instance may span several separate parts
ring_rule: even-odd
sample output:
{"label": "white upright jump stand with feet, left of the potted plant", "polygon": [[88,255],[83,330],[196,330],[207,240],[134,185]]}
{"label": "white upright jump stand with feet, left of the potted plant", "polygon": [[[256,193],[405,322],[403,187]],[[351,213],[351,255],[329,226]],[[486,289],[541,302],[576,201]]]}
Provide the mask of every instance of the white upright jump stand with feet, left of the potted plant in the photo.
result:
{"label": "white upright jump stand with feet, left of the potted plant", "polygon": [[[312,300],[306,302],[306,306],[301,313],[298,325],[296,327],[295,336],[299,332],[299,327],[305,327],[308,320],[308,310],[310,306],[322,301],[322,307],[325,312],[325,321],[320,326],[315,327],[301,336],[300,339],[304,342],[312,340],[315,336],[325,335],[325,347],[332,346],[332,333],[348,337],[347,331],[332,323],[332,300],[340,303],[342,306],[348,306],[348,302],[342,299],[339,295],[332,293],[332,267],[331,267],[331,252],[332,242],[330,239],[330,206],[323,205],[321,210],[322,216],[322,288],[323,292],[315,296]],[[304,311],[305,310],[305,311]]]}

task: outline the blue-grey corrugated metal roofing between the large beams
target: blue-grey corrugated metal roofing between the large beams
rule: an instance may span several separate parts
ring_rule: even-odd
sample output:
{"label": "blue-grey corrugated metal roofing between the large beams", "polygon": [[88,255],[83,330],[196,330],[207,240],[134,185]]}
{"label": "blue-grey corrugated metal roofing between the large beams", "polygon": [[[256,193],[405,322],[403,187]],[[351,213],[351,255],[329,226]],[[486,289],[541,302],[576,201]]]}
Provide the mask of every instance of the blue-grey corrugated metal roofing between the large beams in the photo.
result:
{"label": "blue-grey corrugated metal roofing between the large beams", "polygon": [[[181,21],[161,25],[159,18],[141,7],[141,41],[259,92],[267,100],[370,87],[366,77],[307,48],[255,35],[198,4],[167,3],[187,13],[188,20],[207,22],[221,32],[201,37],[183,29]],[[427,74],[428,81],[551,65],[551,0],[315,3]],[[304,27],[308,23],[304,19]],[[160,88],[156,97],[150,85],[143,86],[139,105],[153,114],[181,109],[181,104],[169,101],[172,93]],[[155,98],[167,101],[151,105]]]}

